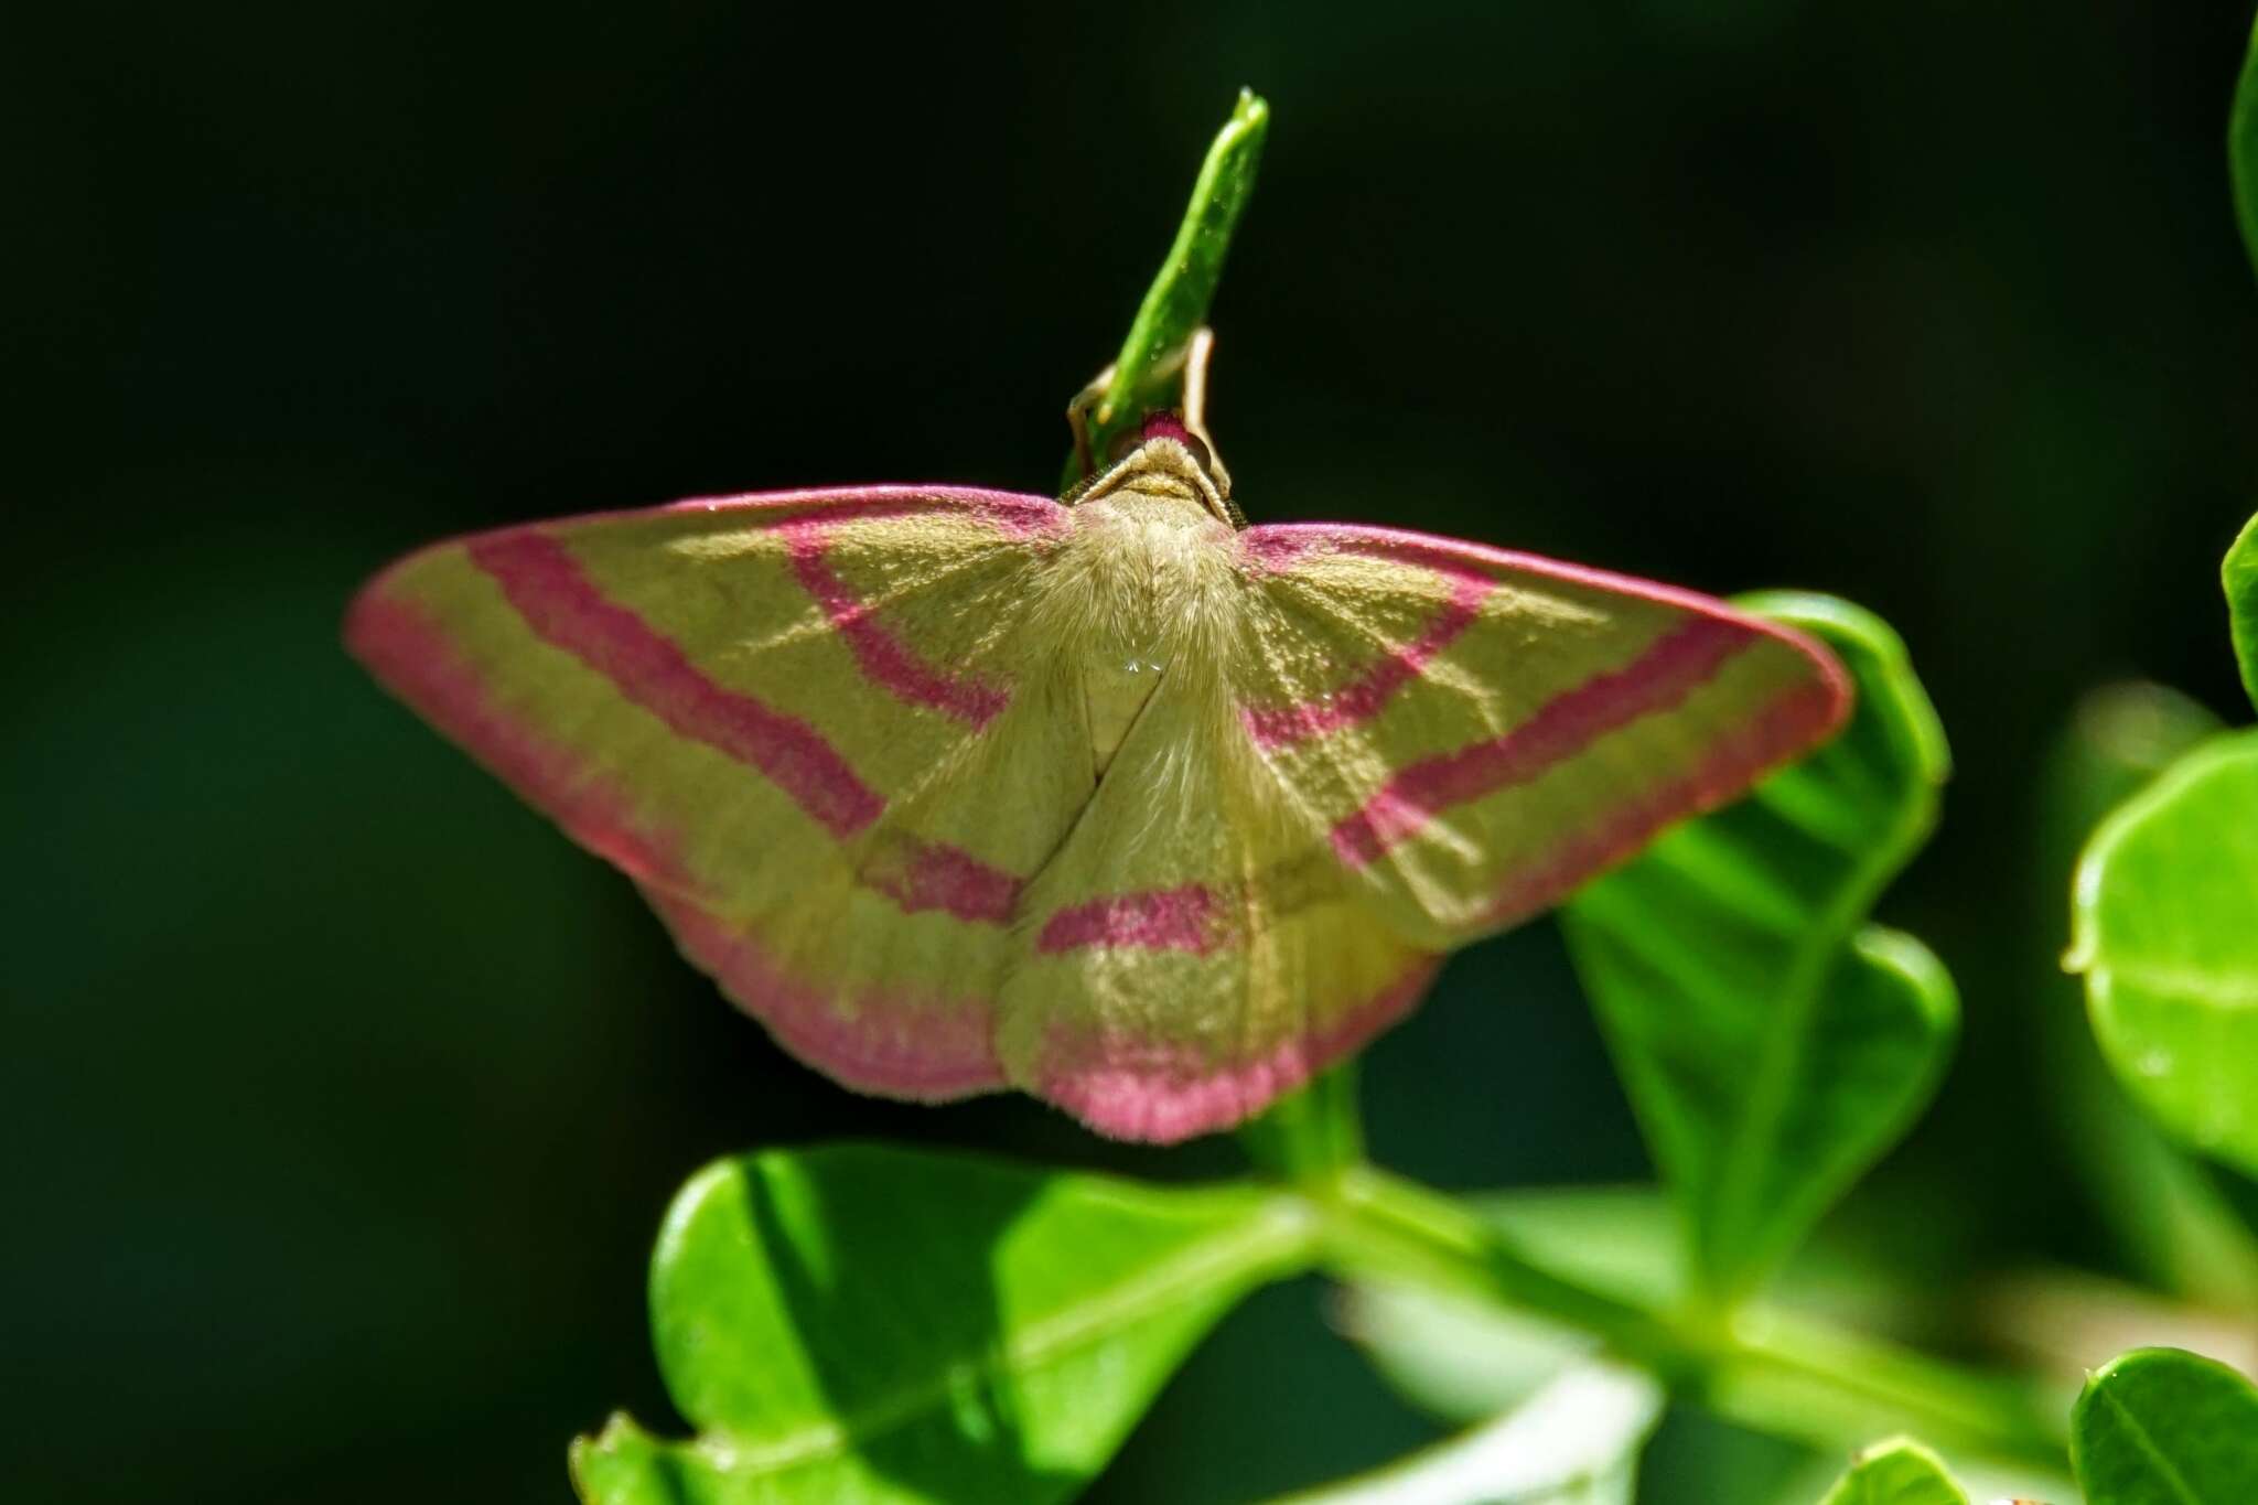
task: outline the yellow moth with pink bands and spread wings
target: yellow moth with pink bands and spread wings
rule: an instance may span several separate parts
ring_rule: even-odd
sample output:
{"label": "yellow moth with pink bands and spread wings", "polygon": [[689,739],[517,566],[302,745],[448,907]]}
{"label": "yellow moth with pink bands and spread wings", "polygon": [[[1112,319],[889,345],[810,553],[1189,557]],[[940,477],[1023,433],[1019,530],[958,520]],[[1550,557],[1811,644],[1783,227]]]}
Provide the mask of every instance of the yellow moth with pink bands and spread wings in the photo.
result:
{"label": "yellow moth with pink bands and spread wings", "polygon": [[835,1081],[1021,1088],[1127,1139],[1226,1128],[1409,1011],[1447,950],[1827,738],[1849,690],[1689,591],[1246,526],[1206,352],[1064,499],[869,485],[501,528],[377,575],[348,645]]}

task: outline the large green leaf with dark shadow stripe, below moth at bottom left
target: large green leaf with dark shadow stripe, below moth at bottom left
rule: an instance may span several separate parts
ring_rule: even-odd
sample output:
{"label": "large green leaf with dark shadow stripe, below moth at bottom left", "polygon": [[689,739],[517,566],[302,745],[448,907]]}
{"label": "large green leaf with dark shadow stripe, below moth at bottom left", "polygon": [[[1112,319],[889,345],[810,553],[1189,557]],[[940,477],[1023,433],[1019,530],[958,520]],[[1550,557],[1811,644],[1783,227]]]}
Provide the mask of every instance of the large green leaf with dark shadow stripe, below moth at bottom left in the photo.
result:
{"label": "large green leaf with dark shadow stripe, below moth at bottom left", "polygon": [[1190,1347],[1310,1257],[1301,1203],[883,1146],[700,1171],[650,1270],[693,1442],[614,1417],[603,1505],[1059,1500]]}

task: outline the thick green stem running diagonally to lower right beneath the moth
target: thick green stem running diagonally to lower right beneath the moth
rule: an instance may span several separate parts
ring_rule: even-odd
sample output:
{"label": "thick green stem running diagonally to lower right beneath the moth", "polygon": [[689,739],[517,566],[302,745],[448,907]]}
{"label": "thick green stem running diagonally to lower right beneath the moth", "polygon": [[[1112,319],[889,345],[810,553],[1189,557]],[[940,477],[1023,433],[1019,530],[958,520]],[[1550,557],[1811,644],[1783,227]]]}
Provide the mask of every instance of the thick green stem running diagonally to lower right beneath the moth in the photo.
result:
{"label": "thick green stem running diagonally to lower right beneath the moth", "polygon": [[1556,1275],[1456,1200],[1371,1167],[1305,1187],[1344,1279],[1414,1282],[1554,1318],[1757,1431],[1863,1446],[1890,1431],[2003,1462],[2064,1467],[2066,1431],[2032,1385],[1802,1318],[1680,1318]]}

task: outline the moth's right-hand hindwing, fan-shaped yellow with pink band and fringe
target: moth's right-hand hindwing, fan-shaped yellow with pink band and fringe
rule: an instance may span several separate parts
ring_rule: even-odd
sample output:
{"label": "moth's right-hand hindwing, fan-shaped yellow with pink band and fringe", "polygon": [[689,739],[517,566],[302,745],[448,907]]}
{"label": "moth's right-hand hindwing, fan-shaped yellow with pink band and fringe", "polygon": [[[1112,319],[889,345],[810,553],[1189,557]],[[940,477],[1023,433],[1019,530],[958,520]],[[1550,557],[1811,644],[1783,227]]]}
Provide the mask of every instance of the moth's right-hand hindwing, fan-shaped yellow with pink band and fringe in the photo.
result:
{"label": "moth's right-hand hindwing, fan-shaped yellow with pink band and fringe", "polygon": [[1398,934],[1235,724],[1231,666],[1170,668],[1027,887],[1007,1074],[1127,1139],[1228,1128],[1418,1002]]}

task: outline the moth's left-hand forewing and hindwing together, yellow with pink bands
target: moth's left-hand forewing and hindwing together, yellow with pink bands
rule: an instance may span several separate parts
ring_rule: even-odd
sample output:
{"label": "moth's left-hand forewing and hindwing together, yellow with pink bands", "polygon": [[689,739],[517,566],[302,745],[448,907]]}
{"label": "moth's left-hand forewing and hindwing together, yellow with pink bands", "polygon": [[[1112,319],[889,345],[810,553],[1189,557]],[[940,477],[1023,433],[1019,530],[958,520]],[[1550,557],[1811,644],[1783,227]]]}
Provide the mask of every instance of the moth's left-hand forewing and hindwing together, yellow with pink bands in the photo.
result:
{"label": "moth's left-hand forewing and hindwing together, yellow with pink bands", "polygon": [[1034,496],[698,501],[438,544],[350,648],[583,846],[795,1054],[896,1097],[1005,1085],[1021,884],[1093,787],[1025,672]]}

